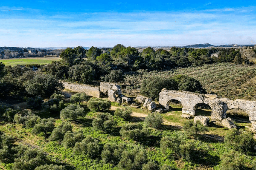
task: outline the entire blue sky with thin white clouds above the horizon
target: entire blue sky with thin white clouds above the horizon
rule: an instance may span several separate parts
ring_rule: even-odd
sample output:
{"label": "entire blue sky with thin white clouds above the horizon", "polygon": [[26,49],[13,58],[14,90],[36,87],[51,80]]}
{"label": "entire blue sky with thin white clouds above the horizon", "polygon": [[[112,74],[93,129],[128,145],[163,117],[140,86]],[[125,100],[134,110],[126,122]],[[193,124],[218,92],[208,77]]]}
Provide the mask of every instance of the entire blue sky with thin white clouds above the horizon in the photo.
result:
{"label": "entire blue sky with thin white clouds above the horizon", "polygon": [[255,30],[252,0],[0,1],[0,46],[244,45]]}

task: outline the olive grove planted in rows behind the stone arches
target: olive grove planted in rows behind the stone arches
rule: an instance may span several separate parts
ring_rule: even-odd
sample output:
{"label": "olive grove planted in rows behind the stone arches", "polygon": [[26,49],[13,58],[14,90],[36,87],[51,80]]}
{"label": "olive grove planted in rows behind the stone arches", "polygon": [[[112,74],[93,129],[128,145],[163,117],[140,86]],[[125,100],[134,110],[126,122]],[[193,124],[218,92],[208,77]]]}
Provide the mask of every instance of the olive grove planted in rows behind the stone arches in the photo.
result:
{"label": "olive grove planted in rows behind the stone arches", "polygon": [[197,79],[207,93],[230,99],[256,99],[256,66],[219,63],[202,67],[178,68],[172,71],[140,71],[137,75],[127,75],[127,84],[138,85],[151,76],[172,77],[184,74]]}

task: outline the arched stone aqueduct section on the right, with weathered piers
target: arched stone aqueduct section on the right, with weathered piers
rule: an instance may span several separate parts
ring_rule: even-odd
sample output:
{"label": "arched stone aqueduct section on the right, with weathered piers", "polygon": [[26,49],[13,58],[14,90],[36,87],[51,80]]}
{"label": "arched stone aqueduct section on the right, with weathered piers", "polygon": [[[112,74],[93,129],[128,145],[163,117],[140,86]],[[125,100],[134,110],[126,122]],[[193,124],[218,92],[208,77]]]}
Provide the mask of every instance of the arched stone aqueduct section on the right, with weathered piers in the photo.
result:
{"label": "arched stone aqueduct section on the right, with weathered piers", "polygon": [[216,95],[197,94],[188,91],[163,90],[159,94],[159,104],[169,109],[172,100],[179,101],[183,108],[182,113],[195,115],[195,106],[200,103],[209,105],[212,108],[212,120],[221,121],[226,118],[228,109],[238,108],[245,111],[252,124],[256,124],[256,101],[227,98],[220,98]]}

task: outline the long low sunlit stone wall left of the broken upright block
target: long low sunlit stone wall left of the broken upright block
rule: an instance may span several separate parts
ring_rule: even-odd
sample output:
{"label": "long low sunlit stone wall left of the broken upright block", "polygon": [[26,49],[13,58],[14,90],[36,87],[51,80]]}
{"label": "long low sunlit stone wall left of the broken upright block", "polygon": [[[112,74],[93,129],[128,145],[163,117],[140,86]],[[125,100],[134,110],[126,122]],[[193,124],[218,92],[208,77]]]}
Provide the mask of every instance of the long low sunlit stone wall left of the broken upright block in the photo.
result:
{"label": "long low sunlit stone wall left of the broken upright block", "polygon": [[64,88],[75,91],[75,92],[84,92],[89,96],[93,97],[100,97],[100,91],[99,87],[93,87],[90,85],[83,85],[83,84],[76,84],[76,83],[70,83],[70,82],[62,82],[64,85]]}

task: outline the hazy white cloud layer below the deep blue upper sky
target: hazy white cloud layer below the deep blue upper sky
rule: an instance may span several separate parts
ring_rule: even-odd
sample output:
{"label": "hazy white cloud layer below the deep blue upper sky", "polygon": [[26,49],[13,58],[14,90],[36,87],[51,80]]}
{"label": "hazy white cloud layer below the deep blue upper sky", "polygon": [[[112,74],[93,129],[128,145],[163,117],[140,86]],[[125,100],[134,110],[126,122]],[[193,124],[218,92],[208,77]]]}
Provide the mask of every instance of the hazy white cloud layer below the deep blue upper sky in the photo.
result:
{"label": "hazy white cloud layer below the deep blue upper sky", "polygon": [[[246,44],[256,37],[256,20],[254,13],[241,13],[241,10],[254,8],[195,12],[73,13],[33,18],[30,15],[7,18],[0,14],[0,39],[4,40],[0,46]],[[0,10],[6,9],[0,7]],[[219,11],[228,11],[228,14]]]}

